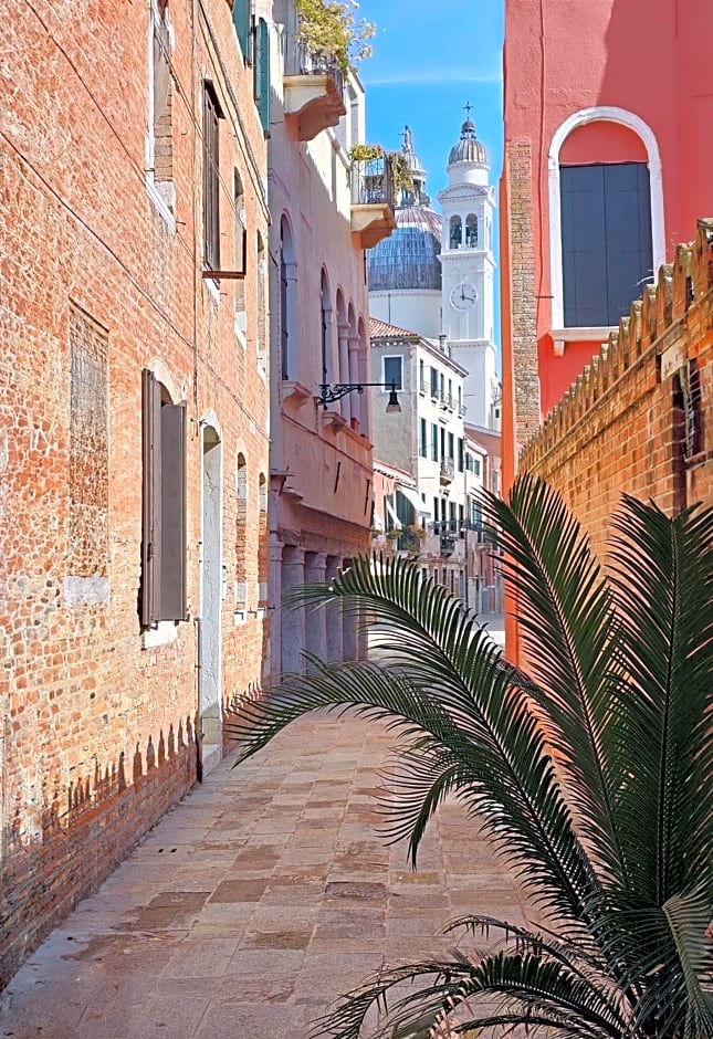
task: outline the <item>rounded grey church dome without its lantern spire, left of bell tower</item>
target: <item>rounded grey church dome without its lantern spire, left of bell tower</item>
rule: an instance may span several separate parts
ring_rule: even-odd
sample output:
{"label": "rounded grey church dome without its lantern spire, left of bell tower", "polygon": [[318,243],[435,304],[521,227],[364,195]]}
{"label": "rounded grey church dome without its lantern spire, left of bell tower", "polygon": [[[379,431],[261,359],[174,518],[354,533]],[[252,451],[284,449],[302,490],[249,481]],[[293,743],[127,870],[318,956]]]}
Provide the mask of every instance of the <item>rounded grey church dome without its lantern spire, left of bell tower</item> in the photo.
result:
{"label": "rounded grey church dome without its lantern spire, left of bell tower", "polygon": [[367,256],[369,292],[441,288],[441,218],[427,206],[400,206],[396,231]]}

